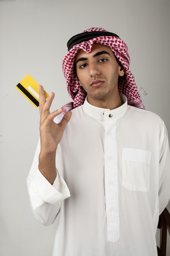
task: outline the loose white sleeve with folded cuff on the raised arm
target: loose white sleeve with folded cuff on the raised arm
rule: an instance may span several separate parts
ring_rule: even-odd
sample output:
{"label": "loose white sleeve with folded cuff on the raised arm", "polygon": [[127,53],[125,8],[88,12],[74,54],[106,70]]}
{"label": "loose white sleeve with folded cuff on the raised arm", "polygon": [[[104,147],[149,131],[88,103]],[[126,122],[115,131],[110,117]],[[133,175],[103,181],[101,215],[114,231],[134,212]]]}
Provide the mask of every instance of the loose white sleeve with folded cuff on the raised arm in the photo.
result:
{"label": "loose white sleeve with folded cuff on the raised arm", "polygon": [[27,178],[27,187],[35,218],[43,225],[50,225],[60,211],[61,201],[69,197],[70,192],[58,170],[53,185],[41,174],[38,169],[39,151],[40,141]]}

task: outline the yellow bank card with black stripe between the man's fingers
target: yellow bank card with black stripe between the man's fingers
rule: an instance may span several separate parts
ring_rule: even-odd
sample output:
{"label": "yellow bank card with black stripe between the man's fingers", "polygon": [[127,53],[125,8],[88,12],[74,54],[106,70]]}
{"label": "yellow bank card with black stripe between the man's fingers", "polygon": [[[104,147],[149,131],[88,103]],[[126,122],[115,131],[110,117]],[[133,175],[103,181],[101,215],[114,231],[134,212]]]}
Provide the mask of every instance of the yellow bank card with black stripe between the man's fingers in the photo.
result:
{"label": "yellow bank card with black stripe between the man's fingers", "polygon": [[[15,87],[35,106],[39,106],[39,90],[37,83],[29,74],[27,74]],[[44,91],[45,98],[49,94]]]}

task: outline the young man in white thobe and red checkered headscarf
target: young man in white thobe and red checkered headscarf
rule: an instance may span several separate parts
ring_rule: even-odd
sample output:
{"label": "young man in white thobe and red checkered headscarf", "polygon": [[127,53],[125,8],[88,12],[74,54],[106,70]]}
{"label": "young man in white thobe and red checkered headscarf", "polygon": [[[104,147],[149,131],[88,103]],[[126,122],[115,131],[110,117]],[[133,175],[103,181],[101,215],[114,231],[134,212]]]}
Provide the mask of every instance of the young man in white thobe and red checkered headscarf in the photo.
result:
{"label": "young man in white thobe and red checkered headscarf", "polygon": [[116,34],[91,28],[68,48],[72,110],[50,113],[54,93],[46,101],[39,86],[40,143],[27,180],[34,215],[44,225],[59,217],[53,256],[156,256],[170,198],[165,124],[141,109]]}

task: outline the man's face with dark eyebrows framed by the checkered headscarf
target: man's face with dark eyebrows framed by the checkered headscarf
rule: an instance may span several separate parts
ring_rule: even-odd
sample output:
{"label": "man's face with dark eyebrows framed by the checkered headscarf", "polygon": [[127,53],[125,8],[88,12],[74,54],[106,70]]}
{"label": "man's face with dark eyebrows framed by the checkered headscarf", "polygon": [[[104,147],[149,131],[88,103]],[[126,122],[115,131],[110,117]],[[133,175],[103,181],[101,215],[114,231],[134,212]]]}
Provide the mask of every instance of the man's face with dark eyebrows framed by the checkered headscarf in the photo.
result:
{"label": "man's face with dark eyebrows framed by the checkered headscarf", "polygon": [[75,63],[80,86],[87,92],[89,103],[96,105],[96,102],[114,100],[119,95],[118,77],[124,70],[109,46],[94,43],[89,53],[81,49]]}

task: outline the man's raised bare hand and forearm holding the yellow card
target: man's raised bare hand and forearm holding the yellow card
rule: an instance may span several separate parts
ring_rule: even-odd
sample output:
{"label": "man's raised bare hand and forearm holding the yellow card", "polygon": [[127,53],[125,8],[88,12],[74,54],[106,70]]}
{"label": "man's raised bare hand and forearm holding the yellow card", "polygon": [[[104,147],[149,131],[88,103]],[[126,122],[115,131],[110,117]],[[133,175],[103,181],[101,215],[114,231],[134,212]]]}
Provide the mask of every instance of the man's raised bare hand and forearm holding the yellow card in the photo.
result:
{"label": "man's raised bare hand and forearm holding the yellow card", "polygon": [[39,154],[39,170],[52,184],[56,177],[55,154],[58,143],[60,142],[65,126],[71,117],[68,111],[60,123],[55,123],[53,118],[62,112],[62,109],[50,113],[50,107],[54,99],[51,92],[48,99],[45,99],[44,89],[39,85],[39,111],[40,111],[40,142],[41,149]]}

